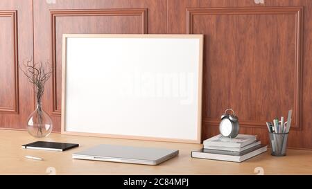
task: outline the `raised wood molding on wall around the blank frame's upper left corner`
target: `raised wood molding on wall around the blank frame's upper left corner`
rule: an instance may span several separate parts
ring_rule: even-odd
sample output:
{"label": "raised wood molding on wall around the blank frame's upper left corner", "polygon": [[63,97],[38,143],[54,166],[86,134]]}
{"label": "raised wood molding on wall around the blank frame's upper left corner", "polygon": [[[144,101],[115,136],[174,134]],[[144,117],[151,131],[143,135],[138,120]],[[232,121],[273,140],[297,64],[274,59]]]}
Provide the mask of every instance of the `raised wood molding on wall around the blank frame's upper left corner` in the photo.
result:
{"label": "raised wood molding on wall around the blank frame's upper left corner", "polygon": [[141,17],[141,34],[148,31],[148,10],[146,8],[110,8],[110,9],[73,9],[73,10],[50,10],[51,15],[51,37],[52,37],[52,84],[53,84],[53,116],[61,116],[61,109],[57,102],[56,83],[56,18],[57,17],[89,17],[89,16],[139,16]]}

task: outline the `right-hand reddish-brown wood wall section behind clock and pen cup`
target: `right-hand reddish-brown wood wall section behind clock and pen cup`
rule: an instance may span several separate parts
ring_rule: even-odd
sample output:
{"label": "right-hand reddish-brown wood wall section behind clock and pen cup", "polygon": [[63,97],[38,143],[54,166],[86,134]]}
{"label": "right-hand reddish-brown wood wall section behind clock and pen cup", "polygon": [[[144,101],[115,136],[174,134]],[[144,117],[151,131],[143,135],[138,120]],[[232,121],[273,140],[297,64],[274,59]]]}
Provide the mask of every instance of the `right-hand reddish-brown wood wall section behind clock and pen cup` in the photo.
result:
{"label": "right-hand reddish-brown wood wall section behind clock and pen cup", "polygon": [[[312,148],[311,1],[168,1],[167,33],[205,34],[202,136],[236,109],[241,133],[268,143],[265,122],[294,109],[288,147]],[[175,10],[175,12],[171,11]],[[242,14],[243,13],[243,14]],[[278,72],[278,73],[276,73]],[[308,73],[309,72],[309,73]],[[309,88],[309,89],[308,89]],[[310,96],[310,97],[308,97]]]}

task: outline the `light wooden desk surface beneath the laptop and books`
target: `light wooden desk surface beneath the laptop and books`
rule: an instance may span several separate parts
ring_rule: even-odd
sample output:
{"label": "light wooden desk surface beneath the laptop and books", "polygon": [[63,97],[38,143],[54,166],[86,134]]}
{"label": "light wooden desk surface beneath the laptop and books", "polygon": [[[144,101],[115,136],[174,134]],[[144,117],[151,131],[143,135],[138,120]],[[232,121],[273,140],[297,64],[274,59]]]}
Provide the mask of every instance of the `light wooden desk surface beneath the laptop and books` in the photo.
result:
{"label": "light wooden desk surface beneath the laptop and books", "polygon": [[[192,159],[191,150],[202,145],[135,141],[87,136],[51,134],[40,141],[79,143],[80,147],[65,151],[26,150],[21,145],[38,141],[27,132],[0,129],[0,174],[47,174],[49,167],[56,174],[256,174],[254,169],[263,168],[264,174],[312,174],[312,151],[288,150],[287,156],[270,156],[268,152],[243,163]],[[165,147],[180,150],[173,159],[159,165],[135,165],[105,161],[72,159],[71,154],[98,144]],[[39,156],[44,161],[25,159],[24,156]]]}

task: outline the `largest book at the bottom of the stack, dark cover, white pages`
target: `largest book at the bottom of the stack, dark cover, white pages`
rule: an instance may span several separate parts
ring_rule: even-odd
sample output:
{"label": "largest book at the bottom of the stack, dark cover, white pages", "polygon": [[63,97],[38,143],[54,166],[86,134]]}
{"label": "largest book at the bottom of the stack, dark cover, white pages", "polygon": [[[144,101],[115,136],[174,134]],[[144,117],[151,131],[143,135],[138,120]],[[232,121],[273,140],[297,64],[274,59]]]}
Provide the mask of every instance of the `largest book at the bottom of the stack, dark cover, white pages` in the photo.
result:
{"label": "largest book at the bottom of the stack, dark cover, white pages", "polygon": [[[239,156],[236,155],[228,155],[228,154],[215,154],[215,153],[207,153],[205,149],[199,151],[191,152],[191,157],[193,158],[200,158],[200,159],[213,159],[213,160],[220,160],[220,161],[234,161],[234,162],[242,162],[246,159],[250,159],[253,156],[257,156],[263,152],[268,150],[268,146],[260,145],[257,150],[253,150],[251,152],[242,153]],[[245,150],[248,151],[248,150]],[[225,152],[225,151],[224,151]]]}

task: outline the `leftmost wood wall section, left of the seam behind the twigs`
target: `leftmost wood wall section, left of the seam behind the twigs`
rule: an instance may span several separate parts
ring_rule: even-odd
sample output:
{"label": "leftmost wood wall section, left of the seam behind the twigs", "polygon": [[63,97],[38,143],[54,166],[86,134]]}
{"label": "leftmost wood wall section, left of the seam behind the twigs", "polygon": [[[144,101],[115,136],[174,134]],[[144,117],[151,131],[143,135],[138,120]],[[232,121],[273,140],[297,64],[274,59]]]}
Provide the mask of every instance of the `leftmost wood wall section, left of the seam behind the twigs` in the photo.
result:
{"label": "leftmost wood wall section, left of the seam behind the twigs", "polygon": [[18,62],[33,57],[32,0],[0,1],[0,127],[26,129],[33,89]]}

